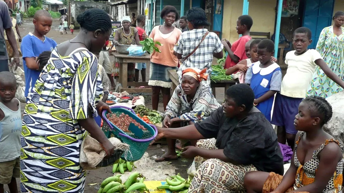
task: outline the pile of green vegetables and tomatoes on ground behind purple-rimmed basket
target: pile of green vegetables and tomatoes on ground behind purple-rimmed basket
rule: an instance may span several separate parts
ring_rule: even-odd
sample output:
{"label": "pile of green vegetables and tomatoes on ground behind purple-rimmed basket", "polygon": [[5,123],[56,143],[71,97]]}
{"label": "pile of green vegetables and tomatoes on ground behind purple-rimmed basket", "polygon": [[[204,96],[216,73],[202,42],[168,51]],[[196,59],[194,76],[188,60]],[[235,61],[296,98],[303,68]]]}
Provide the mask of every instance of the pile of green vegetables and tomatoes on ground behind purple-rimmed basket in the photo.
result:
{"label": "pile of green vegetables and tomatoes on ground behind purple-rimmed basket", "polygon": [[159,114],[158,111],[148,109],[144,105],[137,105],[134,111],[136,115],[146,123],[153,125],[161,123],[162,116]]}

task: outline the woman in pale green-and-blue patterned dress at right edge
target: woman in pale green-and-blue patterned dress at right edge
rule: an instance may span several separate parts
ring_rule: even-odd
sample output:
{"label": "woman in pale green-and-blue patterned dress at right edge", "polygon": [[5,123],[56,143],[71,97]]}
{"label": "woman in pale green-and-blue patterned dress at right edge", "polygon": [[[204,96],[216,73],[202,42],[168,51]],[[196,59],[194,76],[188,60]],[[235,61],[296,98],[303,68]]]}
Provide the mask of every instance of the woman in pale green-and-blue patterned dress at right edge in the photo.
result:
{"label": "woman in pale green-and-blue patterned dress at right edge", "polygon": [[[321,31],[316,50],[332,71],[344,80],[344,12],[337,11],[333,21],[332,26]],[[319,66],[316,67],[307,96],[327,98],[340,91],[343,91],[343,88],[327,77]]]}

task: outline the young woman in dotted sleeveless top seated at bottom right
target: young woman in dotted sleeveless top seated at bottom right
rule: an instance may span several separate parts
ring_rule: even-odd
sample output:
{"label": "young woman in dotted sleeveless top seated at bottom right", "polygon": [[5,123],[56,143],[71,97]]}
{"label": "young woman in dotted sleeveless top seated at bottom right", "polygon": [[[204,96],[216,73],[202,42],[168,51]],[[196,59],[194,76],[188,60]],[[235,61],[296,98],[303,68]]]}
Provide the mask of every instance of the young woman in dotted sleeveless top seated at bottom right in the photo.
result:
{"label": "young woman in dotted sleeveless top seated at bottom right", "polygon": [[342,192],[344,147],[322,129],[331,117],[332,107],[324,98],[304,99],[294,120],[296,130],[301,132],[295,140],[290,168],[284,176],[273,172],[247,173],[247,192]]}

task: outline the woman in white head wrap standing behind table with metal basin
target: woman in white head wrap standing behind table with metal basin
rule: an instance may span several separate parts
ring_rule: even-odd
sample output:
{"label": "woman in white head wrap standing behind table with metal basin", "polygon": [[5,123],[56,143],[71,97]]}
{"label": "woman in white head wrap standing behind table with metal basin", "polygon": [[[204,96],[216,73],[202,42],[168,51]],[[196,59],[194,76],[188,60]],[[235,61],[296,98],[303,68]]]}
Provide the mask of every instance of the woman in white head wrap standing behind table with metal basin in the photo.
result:
{"label": "woman in white head wrap standing behind table with metal basin", "polygon": [[[115,33],[113,46],[118,46],[119,44],[123,45],[141,45],[139,34],[137,33],[136,27],[130,27],[130,17],[123,16],[122,18],[122,27],[118,28]],[[112,50],[112,47],[110,50]],[[120,61],[118,58],[115,58],[113,74],[116,79],[119,78],[119,66]],[[133,82],[135,76],[135,63],[128,63],[128,82]],[[112,88],[113,89],[113,88]]]}

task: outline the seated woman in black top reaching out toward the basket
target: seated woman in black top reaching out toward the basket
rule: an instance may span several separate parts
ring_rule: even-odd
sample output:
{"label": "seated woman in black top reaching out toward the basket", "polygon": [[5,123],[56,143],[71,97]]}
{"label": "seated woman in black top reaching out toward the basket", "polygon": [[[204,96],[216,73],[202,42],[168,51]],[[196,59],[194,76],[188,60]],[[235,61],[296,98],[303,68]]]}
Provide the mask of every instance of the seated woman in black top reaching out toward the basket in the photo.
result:
{"label": "seated woman in black top reaching out toward the basket", "polygon": [[197,147],[187,146],[181,154],[195,158],[197,171],[189,192],[243,192],[247,172],[283,174],[277,135],[253,106],[254,99],[247,84],[236,84],[227,89],[222,107],[204,121],[181,128],[158,128],[152,143],[162,137],[199,140]]}

